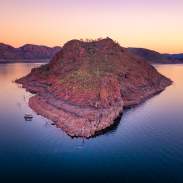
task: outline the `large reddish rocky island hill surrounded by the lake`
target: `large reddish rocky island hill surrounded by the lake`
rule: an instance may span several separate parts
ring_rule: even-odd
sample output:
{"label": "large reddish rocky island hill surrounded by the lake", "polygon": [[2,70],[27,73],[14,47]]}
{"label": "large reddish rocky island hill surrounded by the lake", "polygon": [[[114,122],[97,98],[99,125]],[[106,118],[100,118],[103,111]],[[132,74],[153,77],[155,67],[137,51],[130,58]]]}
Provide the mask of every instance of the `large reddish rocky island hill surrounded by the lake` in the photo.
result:
{"label": "large reddish rocky island hill surrounded by the lake", "polygon": [[86,138],[172,83],[110,38],[71,40],[49,64],[16,82],[35,93],[29,99],[34,111],[68,135]]}

